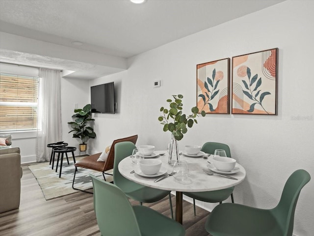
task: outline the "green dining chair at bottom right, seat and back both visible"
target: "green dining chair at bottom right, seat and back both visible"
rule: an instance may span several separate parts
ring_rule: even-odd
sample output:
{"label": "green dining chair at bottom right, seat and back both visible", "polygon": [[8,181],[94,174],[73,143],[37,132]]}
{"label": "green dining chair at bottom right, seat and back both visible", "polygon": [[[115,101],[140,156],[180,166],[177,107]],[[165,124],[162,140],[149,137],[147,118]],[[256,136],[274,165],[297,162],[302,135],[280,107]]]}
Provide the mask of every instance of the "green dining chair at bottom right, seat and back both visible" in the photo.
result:
{"label": "green dining chair at bottom right, seat and back both visible", "polygon": [[212,236],[292,236],[296,203],[301,189],[310,179],[305,170],[293,172],[278,205],[270,210],[220,204],[209,214],[205,229]]}

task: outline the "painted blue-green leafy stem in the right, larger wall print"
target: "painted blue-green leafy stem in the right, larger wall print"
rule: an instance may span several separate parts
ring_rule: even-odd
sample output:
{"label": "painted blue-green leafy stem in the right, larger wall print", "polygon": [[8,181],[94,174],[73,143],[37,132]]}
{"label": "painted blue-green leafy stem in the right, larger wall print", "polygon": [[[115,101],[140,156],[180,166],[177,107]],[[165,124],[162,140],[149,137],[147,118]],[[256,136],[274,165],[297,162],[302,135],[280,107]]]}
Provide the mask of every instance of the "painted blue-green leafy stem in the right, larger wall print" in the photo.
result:
{"label": "painted blue-green leafy stem in the right, larger wall print", "polygon": [[[242,82],[244,84],[244,87],[248,90],[248,91],[245,91],[243,90],[243,93],[249,98],[251,99],[252,101],[254,101],[255,103],[252,103],[250,105],[250,109],[248,109],[247,111],[248,112],[253,112],[254,109],[255,109],[255,105],[261,105],[262,106],[262,101],[264,99],[264,97],[266,95],[269,95],[271,94],[270,92],[263,92],[261,95],[260,95],[260,98],[258,99],[258,96],[260,94],[260,92],[262,90],[258,90],[258,88],[262,85],[262,78],[260,77],[260,79],[257,79],[258,78],[258,74],[256,74],[255,76],[252,77],[251,79],[251,69],[249,67],[247,67],[246,69],[246,74],[247,74],[247,77],[249,79],[249,83],[247,83],[245,80],[242,79]],[[254,88],[254,89],[253,89]],[[257,91],[258,90],[258,91]],[[265,110],[265,108],[262,106],[262,109],[268,114],[268,112]]]}

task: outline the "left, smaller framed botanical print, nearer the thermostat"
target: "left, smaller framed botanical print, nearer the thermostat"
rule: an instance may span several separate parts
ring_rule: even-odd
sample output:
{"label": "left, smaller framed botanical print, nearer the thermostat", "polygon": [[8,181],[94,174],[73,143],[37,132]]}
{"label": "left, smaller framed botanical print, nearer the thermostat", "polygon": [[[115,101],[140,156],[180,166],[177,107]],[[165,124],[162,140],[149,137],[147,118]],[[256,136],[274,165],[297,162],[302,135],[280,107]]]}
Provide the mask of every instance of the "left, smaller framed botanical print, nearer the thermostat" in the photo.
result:
{"label": "left, smaller framed botanical print, nearer the thermostat", "polygon": [[199,112],[229,114],[230,58],[196,66]]}

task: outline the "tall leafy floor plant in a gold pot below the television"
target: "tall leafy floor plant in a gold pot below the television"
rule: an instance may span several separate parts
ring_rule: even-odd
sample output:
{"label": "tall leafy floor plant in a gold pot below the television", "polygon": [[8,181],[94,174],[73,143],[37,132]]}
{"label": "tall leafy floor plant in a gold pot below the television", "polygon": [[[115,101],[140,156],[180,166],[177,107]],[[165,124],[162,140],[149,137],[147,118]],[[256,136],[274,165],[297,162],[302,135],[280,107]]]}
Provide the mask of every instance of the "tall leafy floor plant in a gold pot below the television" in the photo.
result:
{"label": "tall leafy floor plant in a gold pot below the television", "polygon": [[96,133],[94,132],[94,129],[90,126],[87,126],[90,121],[94,121],[95,119],[92,119],[92,112],[91,112],[91,105],[87,104],[83,107],[83,109],[74,109],[75,114],[72,116],[72,118],[75,118],[75,121],[68,122],[68,124],[71,125],[72,130],[70,132],[73,133],[74,138],[80,138],[82,141],[81,144],[79,144],[79,151],[80,152],[86,152],[87,144],[86,142],[90,138],[95,138]]}

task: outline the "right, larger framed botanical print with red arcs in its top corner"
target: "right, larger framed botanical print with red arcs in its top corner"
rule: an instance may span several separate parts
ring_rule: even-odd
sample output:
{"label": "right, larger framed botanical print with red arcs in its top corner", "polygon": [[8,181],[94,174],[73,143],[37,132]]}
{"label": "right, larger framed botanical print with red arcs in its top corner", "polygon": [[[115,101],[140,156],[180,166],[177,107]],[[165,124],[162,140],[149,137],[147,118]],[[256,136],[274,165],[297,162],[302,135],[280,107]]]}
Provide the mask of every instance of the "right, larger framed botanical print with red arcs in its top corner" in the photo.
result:
{"label": "right, larger framed botanical print with red arcs in its top corner", "polygon": [[232,58],[232,114],[277,115],[278,49]]}

